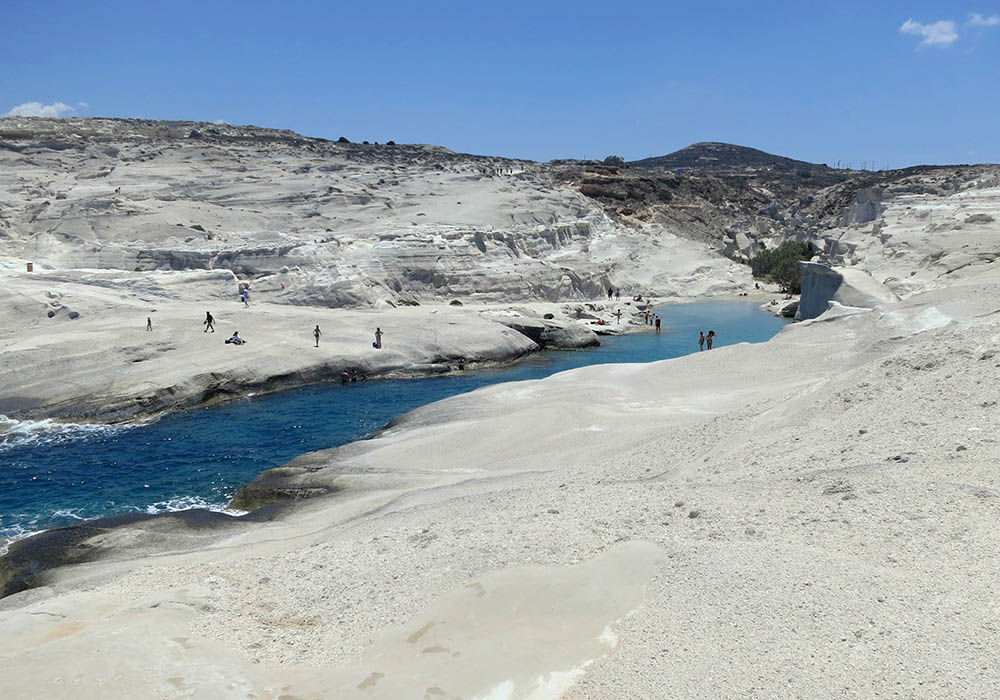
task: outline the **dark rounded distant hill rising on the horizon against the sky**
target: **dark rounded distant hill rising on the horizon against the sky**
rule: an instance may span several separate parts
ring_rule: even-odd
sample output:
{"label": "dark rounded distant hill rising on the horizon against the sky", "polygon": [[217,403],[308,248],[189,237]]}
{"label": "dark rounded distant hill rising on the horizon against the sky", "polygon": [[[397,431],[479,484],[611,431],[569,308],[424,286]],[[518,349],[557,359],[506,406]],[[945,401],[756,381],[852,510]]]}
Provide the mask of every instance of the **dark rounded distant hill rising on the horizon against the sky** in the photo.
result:
{"label": "dark rounded distant hill rising on the horizon against the sky", "polygon": [[760,172],[832,174],[836,171],[826,164],[807,163],[803,160],[784,158],[747,146],[731,143],[696,143],[679,151],[656,158],[643,158],[629,163],[644,170],[681,169],[711,173]]}

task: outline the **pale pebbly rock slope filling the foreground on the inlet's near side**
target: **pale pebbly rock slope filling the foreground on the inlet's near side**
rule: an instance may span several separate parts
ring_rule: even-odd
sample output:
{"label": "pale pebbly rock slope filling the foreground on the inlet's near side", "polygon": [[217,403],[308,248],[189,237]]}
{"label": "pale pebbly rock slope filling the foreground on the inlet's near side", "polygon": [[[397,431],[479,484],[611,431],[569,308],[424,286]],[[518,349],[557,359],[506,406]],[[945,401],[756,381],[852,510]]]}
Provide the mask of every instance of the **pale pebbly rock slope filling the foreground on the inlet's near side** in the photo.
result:
{"label": "pale pebbly rock slope filling the foreground on the inlet's near side", "polygon": [[998,344],[994,264],[424,407],[301,458],[339,496],[5,599],[0,697],[996,696]]}

